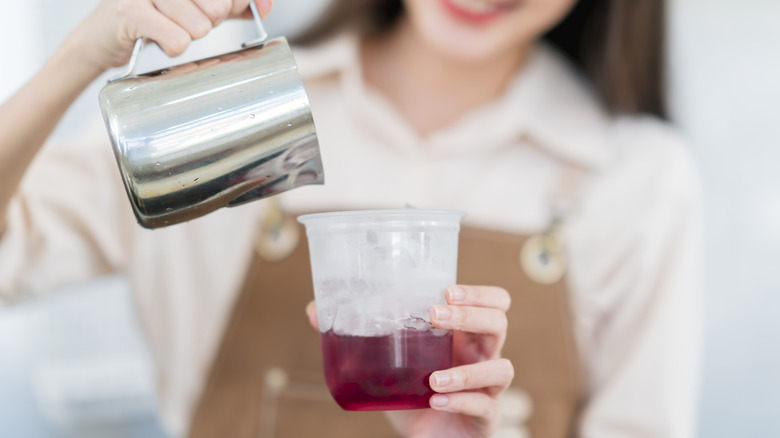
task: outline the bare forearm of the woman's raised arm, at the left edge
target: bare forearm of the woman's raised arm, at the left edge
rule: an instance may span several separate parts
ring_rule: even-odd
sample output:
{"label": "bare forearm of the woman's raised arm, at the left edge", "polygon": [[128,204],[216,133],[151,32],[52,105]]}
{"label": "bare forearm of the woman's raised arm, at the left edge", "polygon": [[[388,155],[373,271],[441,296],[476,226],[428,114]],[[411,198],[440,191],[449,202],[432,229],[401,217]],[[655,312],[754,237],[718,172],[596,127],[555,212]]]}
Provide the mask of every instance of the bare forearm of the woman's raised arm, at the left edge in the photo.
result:
{"label": "bare forearm of the woman's raised arm, at the left edge", "polygon": [[0,106],[0,233],[6,209],[35,155],[81,92],[102,73],[74,32],[38,73]]}

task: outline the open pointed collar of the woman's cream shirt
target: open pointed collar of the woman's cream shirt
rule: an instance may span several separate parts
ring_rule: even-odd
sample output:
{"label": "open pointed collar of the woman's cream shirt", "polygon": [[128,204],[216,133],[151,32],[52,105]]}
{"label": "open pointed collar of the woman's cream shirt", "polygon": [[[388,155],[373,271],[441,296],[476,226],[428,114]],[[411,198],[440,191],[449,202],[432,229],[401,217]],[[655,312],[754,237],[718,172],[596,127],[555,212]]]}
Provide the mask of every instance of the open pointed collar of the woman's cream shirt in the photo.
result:
{"label": "open pointed collar of the woman's cream shirt", "polygon": [[409,154],[462,154],[516,145],[520,139],[569,164],[598,168],[612,147],[610,117],[578,70],[555,48],[539,43],[506,92],[459,121],[422,138],[392,105],[363,81],[359,40],[341,34],[296,49],[304,80],[340,76],[346,104],[388,145]]}

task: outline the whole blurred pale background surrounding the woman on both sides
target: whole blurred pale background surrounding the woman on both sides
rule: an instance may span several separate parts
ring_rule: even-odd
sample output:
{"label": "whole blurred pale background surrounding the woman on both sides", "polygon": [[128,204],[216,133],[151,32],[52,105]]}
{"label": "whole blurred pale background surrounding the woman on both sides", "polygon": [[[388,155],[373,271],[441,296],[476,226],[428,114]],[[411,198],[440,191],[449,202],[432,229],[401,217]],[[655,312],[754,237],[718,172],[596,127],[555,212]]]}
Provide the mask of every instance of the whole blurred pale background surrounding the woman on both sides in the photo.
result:
{"label": "whole blurred pale background surrounding the woman on both sides", "polygon": [[[266,22],[270,33],[294,34],[326,2],[277,1]],[[780,2],[669,2],[672,114],[690,140],[705,190],[699,436],[778,437]],[[0,101],[98,0],[4,3]],[[173,62],[235,50],[253,35],[251,22],[223,24]],[[139,66],[170,62],[152,47]],[[67,142],[100,118],[104,82],[71,108],[57,137]],[[155,414],[154,378],[120,276],[0,308],[0,436],[166,437]]]}

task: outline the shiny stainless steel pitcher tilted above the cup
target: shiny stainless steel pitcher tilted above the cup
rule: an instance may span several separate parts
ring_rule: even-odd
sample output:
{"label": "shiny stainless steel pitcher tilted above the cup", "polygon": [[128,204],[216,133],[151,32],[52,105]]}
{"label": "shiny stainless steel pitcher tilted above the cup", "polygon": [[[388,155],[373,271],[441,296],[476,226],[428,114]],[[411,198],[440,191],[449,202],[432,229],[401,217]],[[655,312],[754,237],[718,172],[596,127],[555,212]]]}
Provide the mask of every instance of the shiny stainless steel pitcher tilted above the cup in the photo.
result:
{"label": "shiny stainless steel pitcher tilted above the cup", "polygon": [[[254,6],[254,2],[251,2]],[[136,43],[100,107],[138,223],[158,228],[324,175],[309,101],[284,38],[136,75]]]}

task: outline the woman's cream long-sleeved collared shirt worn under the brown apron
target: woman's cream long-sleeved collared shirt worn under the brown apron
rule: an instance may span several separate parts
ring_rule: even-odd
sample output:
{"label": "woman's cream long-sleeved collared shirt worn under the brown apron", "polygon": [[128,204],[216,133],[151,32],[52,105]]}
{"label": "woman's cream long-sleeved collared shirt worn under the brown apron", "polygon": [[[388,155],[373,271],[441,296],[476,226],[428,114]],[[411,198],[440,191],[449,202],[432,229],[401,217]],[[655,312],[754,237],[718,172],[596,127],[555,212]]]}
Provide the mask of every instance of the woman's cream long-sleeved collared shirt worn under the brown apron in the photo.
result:
{"label": "woman's cream long-sleeved collared shirt worn under the brown apron", "polygon": [[[566,170],[583,170],[563,226],[588,385],[578,436],[693,436],[699,193],[674,130],[649,117],[608,116],[560,55],[540,46],[503,97],[421,138],[366,88],[356,47],[343,36],[296,51],[326,184],[280,195],[282,205],[409,203],[465,210],[469,225],[530,234],[549,224]],[[145,230],[96,125],[78,147],[47,149],[30,169],[0,241],[0,300],[126,272],[157,360],[164,422],[184,434],[265,207]]]}

